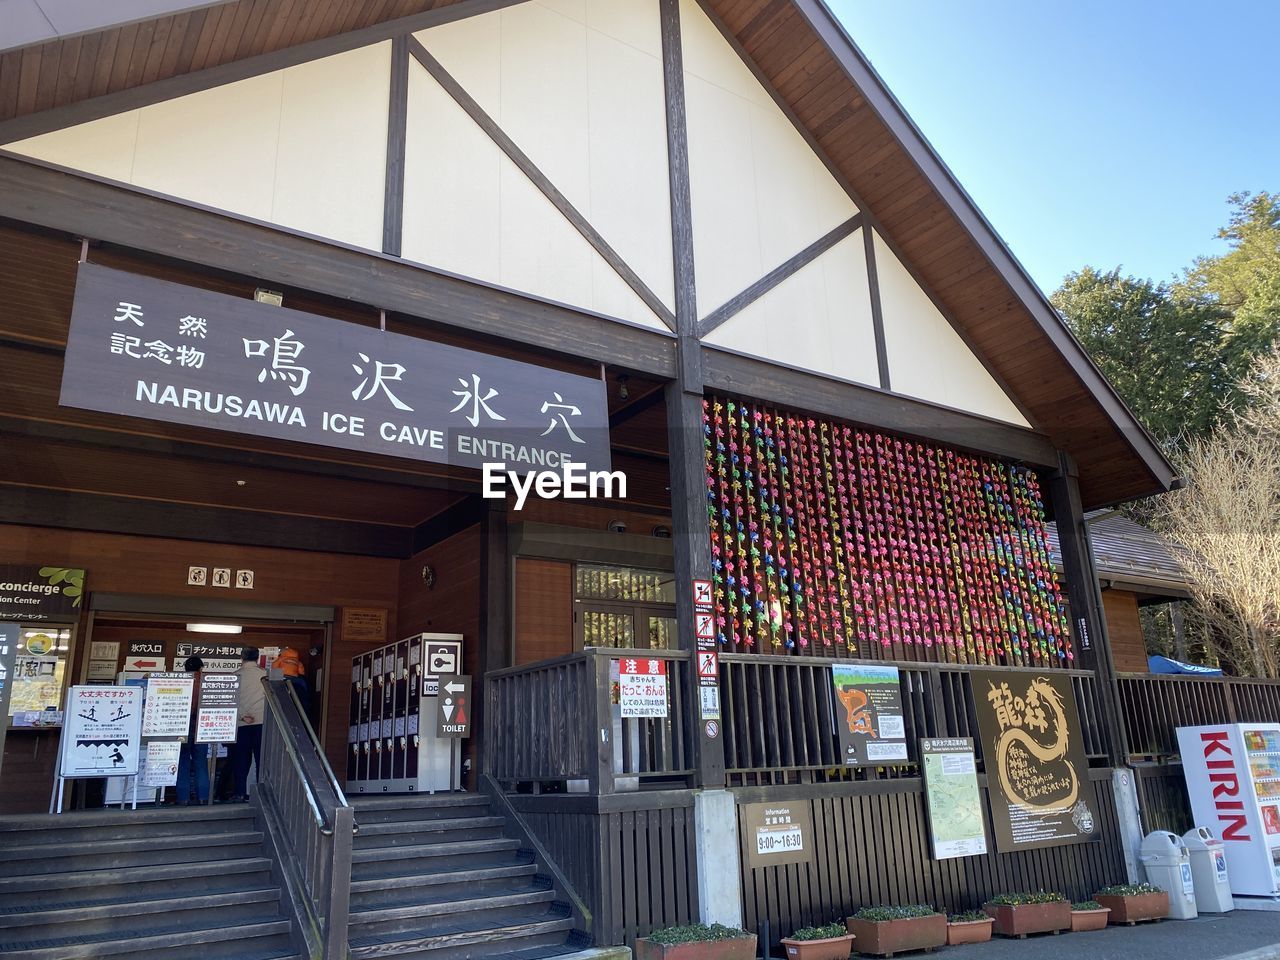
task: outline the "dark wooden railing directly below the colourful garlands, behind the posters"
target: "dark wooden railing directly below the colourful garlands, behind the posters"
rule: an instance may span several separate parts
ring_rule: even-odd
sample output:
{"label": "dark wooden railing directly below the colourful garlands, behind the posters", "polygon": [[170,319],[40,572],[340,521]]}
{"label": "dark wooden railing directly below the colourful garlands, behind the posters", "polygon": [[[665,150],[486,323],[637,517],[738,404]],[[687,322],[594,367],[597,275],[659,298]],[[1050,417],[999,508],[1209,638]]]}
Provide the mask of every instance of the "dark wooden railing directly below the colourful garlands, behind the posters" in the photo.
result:
{"label": "dark wooden railing directly below the colourful garlands, behind the posters", "polygon": [[[831,659],[822,657],[721,657],[724,768],[731,786],[826,782],[851,776],[915,777],[919,737],[982,739],[974,712],[973,675],[965,667],[899,663],[908,762],[854,774],[844,768],[831,691]],[[1030,667],[1004,667],[1023,673]],[[1107,755],[1098,685],[1088,671],[1068,673],[1091,758]]]}

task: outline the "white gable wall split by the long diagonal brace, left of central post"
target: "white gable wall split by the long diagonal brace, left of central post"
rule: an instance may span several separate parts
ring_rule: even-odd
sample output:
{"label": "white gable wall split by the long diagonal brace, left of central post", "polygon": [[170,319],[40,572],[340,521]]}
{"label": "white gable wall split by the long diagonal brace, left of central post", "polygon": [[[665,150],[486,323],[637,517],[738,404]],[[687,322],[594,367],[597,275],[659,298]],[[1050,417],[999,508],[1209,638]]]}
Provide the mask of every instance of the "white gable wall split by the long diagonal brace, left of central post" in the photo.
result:
{"label": "white gable wall split by the long diagonal brace, left of central post", "polygon": [[[422,31],[417,37],[654,294],[672,307],[667,128],[657,0],[534,0]],[[420,77],[415,84],[411,131],[442,119],[451,131],[456,129],[457,118],[445,119],[448,111],[428,92],[429,86],[429,77]],[[424,161],[467,163],[429,160],[428,150],[456,146],[447,136],[411,132],[422,143],[416,155]],[[465,141],[466,150],[488,154],[471,143],[470,136]],[[481,160],[484,177],[493,175],[492,163]],[[500,160],[498,166],[506,163]],[[422,177],[421,168],[408,165],[410,182]],[[406,209],[406,256],[425,262],[438,262],[444,256],[449,259],[449,269],[461,273],[507,285],[518,280],[521,289],[539,296],[660,325],[594,252],[588,257],[591,265],[584,278],[567,278],[557,269],[530,270],[527,262],[521,265],[520,261],[536,259],[535,251],[526,247],[539,244],[549,225],[538,204],[526,196],[527,191],[506,175],[500,184],[498,209],[481,202],[481,219],[468,227],[454,219],[460,214],[448,198],[430,196],[430,184],[411,183],[415,206],[412,214]],[[468,259],[471,253],[457,256],[444,250],[431,237],[434,228],[428,225],[442,214],[444,223],[451,224],[449,230],[499,230],[503,262],[492,260],[492,243],[489,253],[477,260]],[[424,223],[411,228],[411,215]],[[557,228],[558,250],[577,246],[559,233]],[[585,243],[580,238],[579,242]],[[479,253],[486,244],[467,239],[463,246]],[[572,251],[567,255],[581,257]]]}

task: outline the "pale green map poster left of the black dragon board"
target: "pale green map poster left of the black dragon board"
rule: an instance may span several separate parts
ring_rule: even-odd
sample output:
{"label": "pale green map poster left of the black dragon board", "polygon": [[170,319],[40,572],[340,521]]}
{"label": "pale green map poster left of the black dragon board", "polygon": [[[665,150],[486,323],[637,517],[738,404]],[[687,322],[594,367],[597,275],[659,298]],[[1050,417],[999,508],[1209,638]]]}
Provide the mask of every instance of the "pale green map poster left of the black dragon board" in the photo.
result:
{"label": "pale green map poster left of the black dragon board", "polygon": [[987,827],[978,791],[978,764],[973,740],[920,740],[920,769],[929,813],[933,859],[977,856],[987,852]]}

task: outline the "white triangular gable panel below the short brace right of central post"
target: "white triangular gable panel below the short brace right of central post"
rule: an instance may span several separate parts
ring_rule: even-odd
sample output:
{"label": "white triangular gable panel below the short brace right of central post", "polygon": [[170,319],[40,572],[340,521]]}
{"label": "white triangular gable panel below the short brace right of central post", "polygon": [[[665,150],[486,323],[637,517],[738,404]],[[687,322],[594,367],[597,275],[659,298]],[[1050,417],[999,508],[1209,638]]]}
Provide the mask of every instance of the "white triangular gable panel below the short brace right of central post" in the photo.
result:
{"label": "white triangular gable panel below the short brace right of central post", "polygon": [[879,381],[861,230],[705,338],[755,357],[869,385]]}

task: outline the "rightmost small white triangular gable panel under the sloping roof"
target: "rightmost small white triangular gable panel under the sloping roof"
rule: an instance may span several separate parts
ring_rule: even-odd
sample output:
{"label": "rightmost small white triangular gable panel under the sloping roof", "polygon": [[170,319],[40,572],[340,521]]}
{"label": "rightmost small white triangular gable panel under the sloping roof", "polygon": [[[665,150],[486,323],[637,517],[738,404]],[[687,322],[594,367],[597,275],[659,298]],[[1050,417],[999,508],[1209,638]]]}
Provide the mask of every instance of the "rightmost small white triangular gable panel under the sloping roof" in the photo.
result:
{"label": "rightmost small white triangular gable panel under the sloping roof", "polygon": [[876,274],[884,319],[890,387],[895,393],[1029,426],[982,361],[878,234]]}

